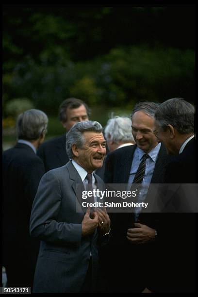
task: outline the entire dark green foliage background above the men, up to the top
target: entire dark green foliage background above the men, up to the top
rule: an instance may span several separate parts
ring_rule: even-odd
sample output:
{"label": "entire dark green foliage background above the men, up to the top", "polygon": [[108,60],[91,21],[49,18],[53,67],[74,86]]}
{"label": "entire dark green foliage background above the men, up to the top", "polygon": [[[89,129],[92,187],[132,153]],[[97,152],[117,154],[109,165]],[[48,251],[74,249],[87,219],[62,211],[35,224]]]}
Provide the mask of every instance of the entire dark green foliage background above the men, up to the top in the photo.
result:
{"label": "entire dark green foliage background above the men, up to the top", "polygon": [[49,115],[51,135],[68,97],[102,125],[139,100],[194,102],[194,70],[194,4],[3,6],[3,117],[13,99],[29,99]]}

